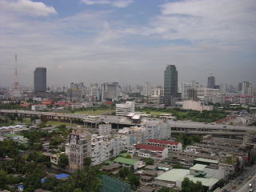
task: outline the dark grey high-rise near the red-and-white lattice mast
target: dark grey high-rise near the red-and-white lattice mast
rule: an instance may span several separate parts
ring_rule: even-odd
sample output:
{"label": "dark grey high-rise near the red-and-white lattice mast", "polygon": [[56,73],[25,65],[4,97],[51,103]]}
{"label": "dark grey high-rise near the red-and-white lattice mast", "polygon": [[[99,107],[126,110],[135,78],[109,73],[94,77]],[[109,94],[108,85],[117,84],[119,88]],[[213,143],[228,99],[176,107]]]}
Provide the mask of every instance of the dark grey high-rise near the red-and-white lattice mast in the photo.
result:
{"label": "dark grey high-rise near the red-and-white lattice mast", "polygon": [[46,68],[37,67],[34,70],[34,92],[46,92]]}

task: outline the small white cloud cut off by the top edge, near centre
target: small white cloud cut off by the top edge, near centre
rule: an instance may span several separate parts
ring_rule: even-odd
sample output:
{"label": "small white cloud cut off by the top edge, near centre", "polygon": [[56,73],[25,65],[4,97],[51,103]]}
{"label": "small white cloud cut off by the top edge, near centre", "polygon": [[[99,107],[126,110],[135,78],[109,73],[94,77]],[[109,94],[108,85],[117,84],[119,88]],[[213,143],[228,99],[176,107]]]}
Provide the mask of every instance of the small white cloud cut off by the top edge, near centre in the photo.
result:
{"label": "small white cloud cut off by the top edge, near centre", "polygon": [[115,6],[115,7],[126,7],[129,6],[130,3],[133,2],[133,0],[116,0],[116,1],[110,1],[110,0],[82,0],[83,3],[86,3],[86,5],[91,6],[91,5],[103,5],[103,4],[108,4],[110,6]]}

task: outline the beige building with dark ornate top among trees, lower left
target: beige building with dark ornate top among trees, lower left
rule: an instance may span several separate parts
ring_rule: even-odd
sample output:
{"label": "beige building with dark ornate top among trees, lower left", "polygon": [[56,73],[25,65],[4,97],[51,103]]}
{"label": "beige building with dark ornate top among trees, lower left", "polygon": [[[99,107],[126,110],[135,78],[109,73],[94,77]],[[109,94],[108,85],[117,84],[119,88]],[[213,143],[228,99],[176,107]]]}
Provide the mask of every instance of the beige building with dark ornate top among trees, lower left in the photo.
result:
{"label": "beige building with dark ornate top among trees, lower left", "polygon": [[91,156],[91,134],[70,134],[65,150],[69,158],[70,169],[76,170],[82,168],[84,159]]}

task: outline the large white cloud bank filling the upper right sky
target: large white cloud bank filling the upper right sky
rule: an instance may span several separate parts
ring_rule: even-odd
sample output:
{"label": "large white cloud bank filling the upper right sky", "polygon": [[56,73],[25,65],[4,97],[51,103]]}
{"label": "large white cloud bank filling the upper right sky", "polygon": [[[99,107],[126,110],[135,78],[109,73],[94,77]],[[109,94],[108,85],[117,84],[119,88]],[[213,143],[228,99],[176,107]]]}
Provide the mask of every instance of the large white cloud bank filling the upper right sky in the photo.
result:
{"label": "large white cloud bank filling the upper right sky", "polygon": [[256,41],[254,0],[185,0],[160,7],[161,14],[154,18],[149,34],[192,42]]}

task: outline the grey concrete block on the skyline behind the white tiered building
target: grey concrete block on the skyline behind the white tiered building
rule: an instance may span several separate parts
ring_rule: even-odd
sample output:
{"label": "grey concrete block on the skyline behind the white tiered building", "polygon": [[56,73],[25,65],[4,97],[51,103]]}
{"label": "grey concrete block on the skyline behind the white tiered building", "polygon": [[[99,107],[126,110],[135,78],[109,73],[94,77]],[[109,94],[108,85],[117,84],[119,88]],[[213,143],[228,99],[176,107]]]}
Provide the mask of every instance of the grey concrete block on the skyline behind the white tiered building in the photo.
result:
{"label": "grey concrete block on the skyline behind the white tiered building", "polygon": [[102,84],[102,101],[118,101],[118,82],[105,82]]}

